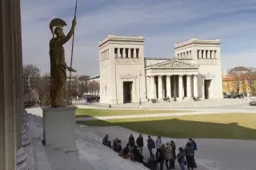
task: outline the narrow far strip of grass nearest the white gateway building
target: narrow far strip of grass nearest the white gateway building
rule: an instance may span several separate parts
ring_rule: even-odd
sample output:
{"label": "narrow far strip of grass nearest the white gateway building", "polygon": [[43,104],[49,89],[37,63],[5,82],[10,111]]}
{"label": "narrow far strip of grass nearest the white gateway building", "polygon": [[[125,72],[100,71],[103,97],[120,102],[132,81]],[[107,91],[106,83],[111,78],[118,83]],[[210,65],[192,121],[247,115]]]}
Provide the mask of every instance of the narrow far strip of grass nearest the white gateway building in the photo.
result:
{"label": "narrow far strip of grass nearest the white gateway building", "polygon": [[118,109],[77,109],[77,117],[102,117],[120,115],[138,115],[152,113],[184,113],[186,110],[118,110]]}

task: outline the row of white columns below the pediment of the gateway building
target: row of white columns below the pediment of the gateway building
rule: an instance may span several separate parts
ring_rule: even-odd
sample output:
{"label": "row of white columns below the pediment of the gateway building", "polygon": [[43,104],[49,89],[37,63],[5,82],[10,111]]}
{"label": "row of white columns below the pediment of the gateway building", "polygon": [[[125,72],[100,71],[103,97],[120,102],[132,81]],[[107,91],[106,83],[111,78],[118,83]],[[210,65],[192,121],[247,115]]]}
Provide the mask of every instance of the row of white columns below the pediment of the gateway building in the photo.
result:
{"label": "row of white columns below the pediment of the gateway building", "polygon": [[146,77],[147,98],[198,97],[198,75],[166,75]]}

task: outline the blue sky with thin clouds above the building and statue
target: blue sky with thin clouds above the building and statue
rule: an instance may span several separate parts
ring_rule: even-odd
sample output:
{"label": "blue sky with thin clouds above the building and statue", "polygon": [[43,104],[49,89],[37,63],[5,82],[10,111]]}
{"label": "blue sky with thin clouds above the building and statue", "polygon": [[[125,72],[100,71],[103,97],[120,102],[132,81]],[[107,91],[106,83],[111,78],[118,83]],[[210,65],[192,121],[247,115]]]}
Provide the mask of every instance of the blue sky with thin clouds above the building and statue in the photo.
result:
{"label": "blue sky with thin clouds above the building and statue", "polygon": [[[23,62],[46,73],[49,22],[64,19],[67,32],[75,0],[21,2]],[[190,38],[221,39],[222,69],[256,66],[255,18],[256,0],[78,0],[73,67],[81,74],[98,74],[98,42],[108,34],[142,35],[145,57],[174,57],[174,43]]]}

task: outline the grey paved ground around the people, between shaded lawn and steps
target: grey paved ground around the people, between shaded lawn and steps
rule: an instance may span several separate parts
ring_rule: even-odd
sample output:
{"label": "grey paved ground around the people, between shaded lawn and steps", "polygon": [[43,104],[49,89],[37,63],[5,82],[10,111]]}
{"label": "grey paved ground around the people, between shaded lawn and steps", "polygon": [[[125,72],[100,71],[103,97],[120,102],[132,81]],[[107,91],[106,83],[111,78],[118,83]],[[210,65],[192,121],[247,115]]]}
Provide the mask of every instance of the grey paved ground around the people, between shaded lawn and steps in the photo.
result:
{"label": "grey paved ground around the people, between shaded lawn and steps", "polygon": [[[98,142],[102,141],[102,137],[106,134],[110,135],[110,140],[118,137],[125,145],[130,134],[135,138],[138,137],[138,132],[121,127],[90,127],[80,126],[78,132],[88,136]],[[143,135],[144,144],[146,144],[147,135]],[[154,140],[156,136],[153,136]],[[163,137],[162,142],[170,142],[174,140],[177,147],[184,147],[188,139],[173,139]],[[256,141],[251,140],[207,140],[196,139],[198,143],[198,151],[195,153],[198,163],[198,170],[254,170],[256,163],[254,161],[254,152],[256,152]],[[149,156],[149,152],[144,147],[143,155],[145,160]],[[178,166],[178,164],[177,164]],[[176,168],[180,169],[180,168]]]}

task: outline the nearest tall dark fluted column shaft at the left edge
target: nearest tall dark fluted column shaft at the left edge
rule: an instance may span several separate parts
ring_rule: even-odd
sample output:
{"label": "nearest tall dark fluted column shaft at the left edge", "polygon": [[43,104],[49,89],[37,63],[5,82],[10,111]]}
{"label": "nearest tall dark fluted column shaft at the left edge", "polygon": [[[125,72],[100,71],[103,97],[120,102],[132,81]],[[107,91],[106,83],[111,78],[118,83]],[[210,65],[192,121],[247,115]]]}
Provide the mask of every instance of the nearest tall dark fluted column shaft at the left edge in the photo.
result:
{"label": "nearest tall dark fluted column shaft at the left edge", "polygon": [[17,137],[16,126],[18,101],[14,96],[18,93],[16,86],[18,77],[14,77],[18,42],[16,35],[20,22],[18,18],[19,1],[0,2],[0,167],[5,170],[16,169]]}

